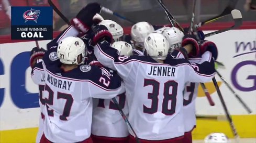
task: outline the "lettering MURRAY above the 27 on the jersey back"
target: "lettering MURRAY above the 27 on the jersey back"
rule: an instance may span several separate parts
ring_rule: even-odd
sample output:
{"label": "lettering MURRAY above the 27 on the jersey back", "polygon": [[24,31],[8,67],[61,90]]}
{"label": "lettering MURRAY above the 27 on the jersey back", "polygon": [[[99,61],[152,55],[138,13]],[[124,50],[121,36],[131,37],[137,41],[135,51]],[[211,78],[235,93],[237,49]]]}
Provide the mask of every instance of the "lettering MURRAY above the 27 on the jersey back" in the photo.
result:
{"label": "lettering MURRAY above the 27 on the jersey back", "polygon": [[55,79],[53,76],[51,76],[50,74],[47,74],[47,81],[58,88],[61,89],[65,89],[65,90],[70,90],[70,87],[72,85],[72,82],[70,81],[64,81],[64,80],[60,80],[60,79]]}

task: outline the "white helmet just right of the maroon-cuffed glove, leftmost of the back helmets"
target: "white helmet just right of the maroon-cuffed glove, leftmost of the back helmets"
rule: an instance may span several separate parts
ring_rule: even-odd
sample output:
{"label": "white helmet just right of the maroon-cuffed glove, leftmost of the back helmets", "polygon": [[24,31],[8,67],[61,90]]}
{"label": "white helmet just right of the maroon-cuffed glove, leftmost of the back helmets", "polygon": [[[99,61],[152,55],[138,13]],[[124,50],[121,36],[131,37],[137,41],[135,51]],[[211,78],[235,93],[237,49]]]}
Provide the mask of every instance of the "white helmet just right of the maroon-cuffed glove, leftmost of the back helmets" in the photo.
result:
{"label": "white helmet just right of the maroon-cuffed glove, leftmost of the back helmets", "polygon": [[115,41],[119,41],[119,38],[124,35],[124,29],[112,20],[102,20],[99,25],[104,25],[107,30],[112,34]]}

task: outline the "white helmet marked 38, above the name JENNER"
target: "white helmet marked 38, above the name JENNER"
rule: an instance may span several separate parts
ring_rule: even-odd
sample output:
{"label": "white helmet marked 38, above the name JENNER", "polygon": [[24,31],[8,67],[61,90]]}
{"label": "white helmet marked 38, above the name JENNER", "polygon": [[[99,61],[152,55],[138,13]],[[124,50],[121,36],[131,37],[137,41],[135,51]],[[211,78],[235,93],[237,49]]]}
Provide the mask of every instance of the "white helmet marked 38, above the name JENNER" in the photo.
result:
{"label": "white helmet marked 38, above the name JENNER", "polygon": [[169,43],[160,33],[151,33],[144,40],[143,51],[156,61],[165,60],[168,55]]}

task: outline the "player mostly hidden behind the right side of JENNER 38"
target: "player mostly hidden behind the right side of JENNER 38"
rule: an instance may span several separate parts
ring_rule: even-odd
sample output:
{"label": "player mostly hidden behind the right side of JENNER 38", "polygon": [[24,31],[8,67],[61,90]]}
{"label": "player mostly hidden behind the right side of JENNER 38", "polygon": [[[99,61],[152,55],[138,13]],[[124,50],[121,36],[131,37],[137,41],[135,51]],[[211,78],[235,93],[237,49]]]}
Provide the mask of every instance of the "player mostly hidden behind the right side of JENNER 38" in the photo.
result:
{"label": "player mostly hidden behind the right side of JENNER 38", "polygon": [[[157,32],[163,34],[167,38],[170,44],[171,50],[182,47],[181,44],[182,44],[182,38],[184,34],[179,29],[162,28],[157,30]],[[206,49],[207,47],[210,47],[213,53],[217,53],[216,45],[213,42],[205,41],[201,45],[201,49],[202,49],[201,52],[204,53],[204,59],[202,59],[202,54],[199,54],[196,57],[192,57],[188,55],[188,60],[190,62],[195,62],[195,63],[202,63],[204,61],[210,62],[212,54],[209,53],[209,51],[207,52],[204,51],[204,49]],[[174,54],[172,55],[174,56]],[[174,57],[186,58],[182,54],[177,54]],[[214,58],[216,60],[217,57],[214,57]],[[198,86],[199,86],[199,83],[188,82],[186,83],[184,92],[183,92],[183,96],[184,96],[183,110],[184,110],[184,123],[185,123],[185,134],[184,134],[183,142],[186,142],[186,143],[192,143],[192,131],[196,127],[195,99],[198,93]]]}

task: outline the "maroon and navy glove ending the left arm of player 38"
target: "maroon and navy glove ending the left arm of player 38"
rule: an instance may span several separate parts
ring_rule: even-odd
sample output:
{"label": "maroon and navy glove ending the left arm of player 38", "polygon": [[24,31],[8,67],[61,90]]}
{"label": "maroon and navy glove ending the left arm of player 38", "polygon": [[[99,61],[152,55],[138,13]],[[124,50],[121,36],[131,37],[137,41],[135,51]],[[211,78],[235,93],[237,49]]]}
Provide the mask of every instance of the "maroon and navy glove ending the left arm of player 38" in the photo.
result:
{"label": "maroon and navy glove ending the left arm of player 38", "polygon": [[94,27],[94,37],[92,40],[91,45],[96,45],[98,42],[107,41],[108,43],[112,43],[113,36],[112,34],[107,30],[107,28],[104,25],[96,25]]}

